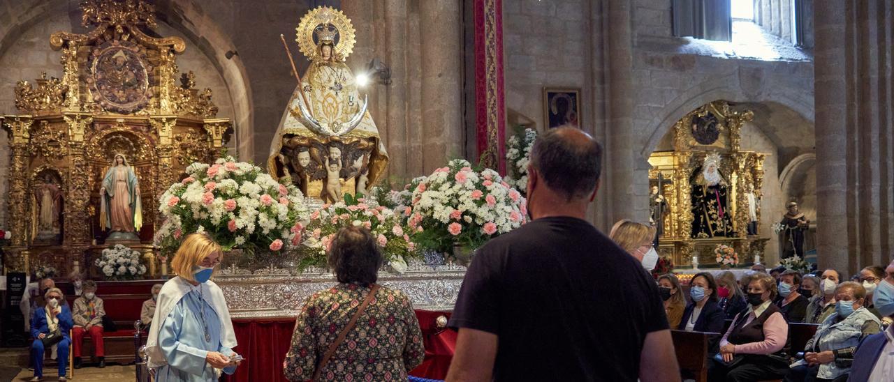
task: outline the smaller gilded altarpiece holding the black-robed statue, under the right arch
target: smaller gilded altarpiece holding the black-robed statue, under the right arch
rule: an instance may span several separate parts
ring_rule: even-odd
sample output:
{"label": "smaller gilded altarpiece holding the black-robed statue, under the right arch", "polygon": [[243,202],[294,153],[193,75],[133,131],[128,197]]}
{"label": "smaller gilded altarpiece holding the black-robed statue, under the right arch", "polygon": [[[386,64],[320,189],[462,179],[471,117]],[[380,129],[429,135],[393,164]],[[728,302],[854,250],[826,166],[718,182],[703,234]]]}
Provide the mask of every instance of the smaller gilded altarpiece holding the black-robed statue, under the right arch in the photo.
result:
{"label": "smaller gilded altarpiece holding the black-robed statue, under the right arch", "polygon": [[718,245],[734,248],[740,265],[755,255],[763,258],[769,238],[756,233],[766,154],[741,149],[742,125],[753,118],[753,112],[733,111],[725,101],[704,104],[674,124],[673,151],[649,157],[658,251],[677,266],[691,266],[695,257],[698,264],[718,267]]}

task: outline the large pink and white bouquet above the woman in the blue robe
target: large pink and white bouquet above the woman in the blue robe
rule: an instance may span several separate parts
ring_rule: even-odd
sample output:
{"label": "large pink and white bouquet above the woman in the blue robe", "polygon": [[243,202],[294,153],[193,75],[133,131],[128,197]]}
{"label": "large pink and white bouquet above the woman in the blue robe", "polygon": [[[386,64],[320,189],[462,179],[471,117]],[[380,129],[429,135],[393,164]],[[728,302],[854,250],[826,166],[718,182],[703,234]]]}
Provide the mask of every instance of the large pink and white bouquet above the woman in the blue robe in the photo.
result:
{"label": "large pink and white bouquet above the woman in the blue robe", "polygon": [[164,254],[173,253],[181,237],[192,232],[207,233],[224,251],[277,252],[298,244],[299,221],[307,220],[308,210],[297,187],[229,156],[213,165],[192,163],[186,172],[188,177],[168,187],[158,207],[164,223],[156,245]]}

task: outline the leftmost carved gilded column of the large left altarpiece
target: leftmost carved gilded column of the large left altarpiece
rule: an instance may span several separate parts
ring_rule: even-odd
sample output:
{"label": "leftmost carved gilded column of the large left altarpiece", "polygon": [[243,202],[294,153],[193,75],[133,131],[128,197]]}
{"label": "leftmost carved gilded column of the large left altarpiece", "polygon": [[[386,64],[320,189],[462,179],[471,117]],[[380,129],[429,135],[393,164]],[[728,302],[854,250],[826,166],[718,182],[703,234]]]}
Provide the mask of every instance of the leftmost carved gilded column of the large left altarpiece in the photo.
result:
{"label": "leftmost carved gilded column of the large left altarpiece", "polygon": [[[30,158],[30,129],[34,120],[30,115],[8,115],[4,119],[4,128],[9,131],[12,160],[9,171],[9,216],[10,229],[13,231],[13,246],[28,245],[30,233],[29,221],[21,219],[28,216],[31,198],[28,195],[28,166]],[[17,203],[12,203],[16,201]]]}

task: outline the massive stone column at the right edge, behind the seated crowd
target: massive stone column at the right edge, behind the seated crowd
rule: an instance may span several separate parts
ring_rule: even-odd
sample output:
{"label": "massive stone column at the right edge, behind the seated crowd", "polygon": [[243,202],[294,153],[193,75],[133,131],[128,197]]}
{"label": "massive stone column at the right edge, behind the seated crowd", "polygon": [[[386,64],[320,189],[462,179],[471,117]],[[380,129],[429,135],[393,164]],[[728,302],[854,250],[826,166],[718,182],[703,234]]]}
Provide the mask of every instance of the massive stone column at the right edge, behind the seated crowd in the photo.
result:
{"label": "massive stone column at the right edge, behind the seated crowd", "polygon": [[894,244],[891,6],[814,2],[817,253],[853,274]]}

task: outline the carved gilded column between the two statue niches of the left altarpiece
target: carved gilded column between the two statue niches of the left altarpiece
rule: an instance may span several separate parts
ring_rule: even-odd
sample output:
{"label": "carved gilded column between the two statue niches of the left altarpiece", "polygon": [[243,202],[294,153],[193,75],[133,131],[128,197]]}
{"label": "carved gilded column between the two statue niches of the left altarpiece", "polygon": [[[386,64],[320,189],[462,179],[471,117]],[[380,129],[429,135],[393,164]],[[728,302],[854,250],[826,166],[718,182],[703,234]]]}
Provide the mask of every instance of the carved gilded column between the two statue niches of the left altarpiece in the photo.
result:
{"label": "carved gilded column between the two statue niches of the left altarpiece", "polygon": [[68,124],[69,136],[69,169],[67,193],[65,194],[65,245],[89,245],[90,217],[88,203],[90,200],[90,169],[87,162],[87,144],[84,136],[88,126],[93,123],[89,114],[72,112],[63,114]]}

